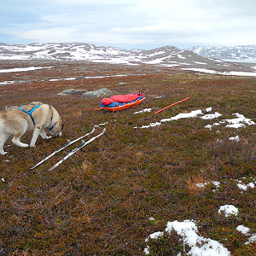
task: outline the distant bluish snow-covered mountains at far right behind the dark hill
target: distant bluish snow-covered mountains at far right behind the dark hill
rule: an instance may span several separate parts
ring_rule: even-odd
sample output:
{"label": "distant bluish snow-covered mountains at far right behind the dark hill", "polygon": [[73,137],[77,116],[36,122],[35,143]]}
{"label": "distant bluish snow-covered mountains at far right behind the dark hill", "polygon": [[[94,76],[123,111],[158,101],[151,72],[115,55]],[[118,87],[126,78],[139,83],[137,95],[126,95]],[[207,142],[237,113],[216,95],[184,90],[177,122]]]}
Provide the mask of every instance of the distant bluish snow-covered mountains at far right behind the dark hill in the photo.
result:
{"label": "distant bluish snow-covered mountains at far right behind the dark hill", "polygon": [[195,46],[189,50],[207,58],[256,60],[256,45],[224,46]]}

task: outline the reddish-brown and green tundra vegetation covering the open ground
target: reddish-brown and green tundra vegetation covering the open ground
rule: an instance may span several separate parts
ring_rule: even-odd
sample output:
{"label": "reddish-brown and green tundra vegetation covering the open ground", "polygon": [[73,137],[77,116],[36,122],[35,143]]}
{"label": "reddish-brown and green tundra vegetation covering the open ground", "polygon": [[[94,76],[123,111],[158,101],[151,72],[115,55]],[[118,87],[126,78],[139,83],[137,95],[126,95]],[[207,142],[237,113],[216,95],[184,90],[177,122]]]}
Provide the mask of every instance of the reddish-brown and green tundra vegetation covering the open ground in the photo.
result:
{"label": "reddish-brown and green tundra vegetation covering the open ground", "polygon": [[[48,102],[65,126],[62,137],[38,137],[35,148],[19,148],[10,139],[5,143],[8,154],[0,155],[1,255],[189,255],[181,236],[165,231],[168,222],[184,220],[195,221],[198,235],[218,241],[230,255],[255,255],[256,125],[237,129],[220,122],[236,118],[233,113],[256,122],[254,78],[195,76],[154,65],[0,62],[1,69],[32,66],[50,68],[1,73],[1,82],[15,83],[0,86],[0,108]],[[115,94],[145,88],[146,99],[116,113],[94,111],[102,98],[83,97],[82,92],[102,88]],[[59,95],[70,89],[81,93]],[[204,114],[209,107],[221,116],[141,129],[178,113],[201,109]],[[100,125],[95,135],[103,127],[107,131],[61,166],[48,171],[78,144],[30,170],[94,125]],[[21,141],[31,137],[27,132]],[[219,211],[225,205],[238,212],[225,215]],[[250,236],[237,230],[241,225]],[[158,239],[148,238],[158,231],[163,232]]]}

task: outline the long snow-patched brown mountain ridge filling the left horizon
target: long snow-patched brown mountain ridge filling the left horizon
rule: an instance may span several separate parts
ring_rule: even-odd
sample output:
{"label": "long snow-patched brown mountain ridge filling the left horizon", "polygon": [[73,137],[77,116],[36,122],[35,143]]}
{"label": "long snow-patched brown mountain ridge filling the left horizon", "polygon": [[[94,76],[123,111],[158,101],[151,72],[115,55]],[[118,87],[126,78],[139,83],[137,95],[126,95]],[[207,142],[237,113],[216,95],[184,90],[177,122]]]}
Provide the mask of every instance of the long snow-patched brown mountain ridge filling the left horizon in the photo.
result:
{"label": "long snow-patched brown mountain ridge filling the left horizon", "polygon": [[1,44],[0,60],[67,60],[107,62],[147,62],[180,52],[173,46],[158,49],[121,49],[94,44]]}

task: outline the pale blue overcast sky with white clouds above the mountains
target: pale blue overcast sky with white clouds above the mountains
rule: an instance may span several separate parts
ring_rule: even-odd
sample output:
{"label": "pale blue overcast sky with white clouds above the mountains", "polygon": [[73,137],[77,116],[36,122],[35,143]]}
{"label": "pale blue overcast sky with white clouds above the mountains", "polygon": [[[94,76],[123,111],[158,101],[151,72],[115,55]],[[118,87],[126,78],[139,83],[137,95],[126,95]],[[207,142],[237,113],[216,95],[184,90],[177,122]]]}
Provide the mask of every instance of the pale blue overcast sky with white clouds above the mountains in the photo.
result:
{"label": "pale blue overcast sky with white clouds above the mountains", "polygon": [[0,42],[125,49],[256,44],[256,1],[0,0]]}

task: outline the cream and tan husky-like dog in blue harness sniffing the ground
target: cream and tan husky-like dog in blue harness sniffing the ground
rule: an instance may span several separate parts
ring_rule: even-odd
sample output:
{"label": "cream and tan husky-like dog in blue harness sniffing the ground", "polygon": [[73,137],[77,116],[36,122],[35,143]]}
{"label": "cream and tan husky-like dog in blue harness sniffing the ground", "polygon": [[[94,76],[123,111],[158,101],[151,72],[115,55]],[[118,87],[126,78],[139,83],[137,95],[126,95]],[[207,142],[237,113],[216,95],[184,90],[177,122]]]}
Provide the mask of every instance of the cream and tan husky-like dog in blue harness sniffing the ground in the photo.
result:
{"label": "cream and tan husky-like dog in blue harness sniffing the ground", "polygon": [[3,151],[3,145],[10,136],[14,136],[12,142],[15,145],[26,148],[28,144],[21,143],[20,137],[26,131],[33,131],[30,147],[34,147],[38,135],[48,139],[45,130],[54,136],[61,136],[63,121],[57,110],[49,104],[43,102],[31,102],[24,106],[5,108],[0,112],[0,154],[6,154]]}

